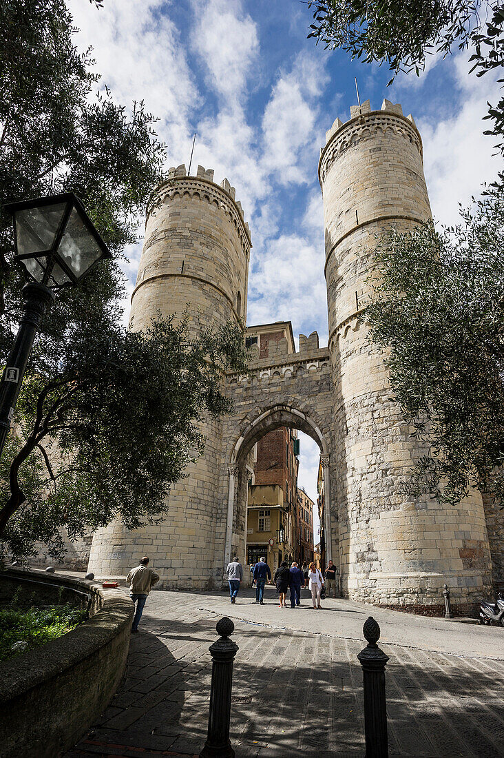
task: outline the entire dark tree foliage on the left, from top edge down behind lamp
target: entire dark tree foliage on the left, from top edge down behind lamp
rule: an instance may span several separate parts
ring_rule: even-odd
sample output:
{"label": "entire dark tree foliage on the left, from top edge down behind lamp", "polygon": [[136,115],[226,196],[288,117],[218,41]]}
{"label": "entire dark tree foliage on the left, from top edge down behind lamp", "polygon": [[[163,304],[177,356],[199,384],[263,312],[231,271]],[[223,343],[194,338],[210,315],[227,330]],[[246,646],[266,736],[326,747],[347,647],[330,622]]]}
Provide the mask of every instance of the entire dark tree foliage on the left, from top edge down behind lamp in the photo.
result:
{"label": "entire dark tree foliage on the left, from top edge down behind lamp", "polygon": [[[96,4],[97,7],[101,5]],[[99,10],[96,11],[99,14]],[[118,513],[130,528],[154,518],[170,484],[199,453],[197,422],[224,413],[224,368],[245,368],[240,327],[189,340],[187,322],[147,334],[119,324],[117,257],[162,179],[164,145],[142,103],[94,92],[91,52],[77,52],[64,0],[0,2],[0,196],[73,191],[114,260],[60,290],[34,346],[0,462],[0,535],[18,557],[33,542],[61,556],[70,537]],[[22,309],[11,220],[0,217],[0,360]]]}

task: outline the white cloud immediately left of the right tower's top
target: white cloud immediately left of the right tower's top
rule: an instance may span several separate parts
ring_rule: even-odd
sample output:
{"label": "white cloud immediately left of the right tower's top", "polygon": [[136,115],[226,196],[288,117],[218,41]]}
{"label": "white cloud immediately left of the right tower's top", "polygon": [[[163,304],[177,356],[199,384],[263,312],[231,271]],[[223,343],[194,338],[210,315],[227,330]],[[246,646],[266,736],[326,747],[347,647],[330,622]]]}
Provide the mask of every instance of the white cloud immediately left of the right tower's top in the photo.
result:
{"label": "white cloud immediately left of the right tower's top", "polygon": [[307,183],[316,164],[323,131],[318,124],[319,99],[328,77],[314,54],[302,52],[289,74],[281,74],[262,118],[268,174],[280,184]]}

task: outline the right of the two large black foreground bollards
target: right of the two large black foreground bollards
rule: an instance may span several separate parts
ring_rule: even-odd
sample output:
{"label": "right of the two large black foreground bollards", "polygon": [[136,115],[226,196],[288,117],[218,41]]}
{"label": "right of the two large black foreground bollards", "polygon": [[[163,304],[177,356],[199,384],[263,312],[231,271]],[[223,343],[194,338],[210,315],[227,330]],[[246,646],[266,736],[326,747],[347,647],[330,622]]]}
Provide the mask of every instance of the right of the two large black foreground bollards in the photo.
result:
{"label": "right of the two large black foreground bollards", "polygon": [[385,666],[388,656],[377,646],[380,627],[370,616],[364,625],[368,644],[358,653],[364,679],[365,758],[387,758],[387,700],[385,698]]}

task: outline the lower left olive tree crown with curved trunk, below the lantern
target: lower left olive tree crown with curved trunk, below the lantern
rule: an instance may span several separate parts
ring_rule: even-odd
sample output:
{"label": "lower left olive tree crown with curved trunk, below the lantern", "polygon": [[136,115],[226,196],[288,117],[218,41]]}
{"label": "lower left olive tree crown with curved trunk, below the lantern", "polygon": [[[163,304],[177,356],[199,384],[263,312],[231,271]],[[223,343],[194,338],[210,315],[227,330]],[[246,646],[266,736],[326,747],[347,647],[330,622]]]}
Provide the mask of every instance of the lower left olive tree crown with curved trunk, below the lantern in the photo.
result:
{"label": "lower left olive tree crown with curved trunk, below the lantern", "polygon": [[238,324],[189,340],[187,319],[143,333],[102,322],[76,327],[59,355],[42,338],[0,461],[0,534],[16,557],[42,540],[56,559],[71,538],[120,516],[127,528],[161,518],[171,484],[202,452],[206,414],[230,412],[226,368],[245,370]]}

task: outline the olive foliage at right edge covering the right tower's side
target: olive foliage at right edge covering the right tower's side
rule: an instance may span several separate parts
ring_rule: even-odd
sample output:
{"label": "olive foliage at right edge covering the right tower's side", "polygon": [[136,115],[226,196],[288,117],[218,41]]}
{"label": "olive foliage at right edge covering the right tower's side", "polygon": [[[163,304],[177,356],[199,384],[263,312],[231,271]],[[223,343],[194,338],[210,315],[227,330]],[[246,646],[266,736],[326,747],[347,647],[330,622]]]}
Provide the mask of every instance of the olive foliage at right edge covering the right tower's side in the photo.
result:
{"label": "olive foliage at right edge covering the right tower's side", "polygon": [[504,503],[504,199],[492,194],[440,233],[429,221],[381,241],[365,310],[389,350],[390,384],[427,443],[414,493],[458,503],[469,486]]}

